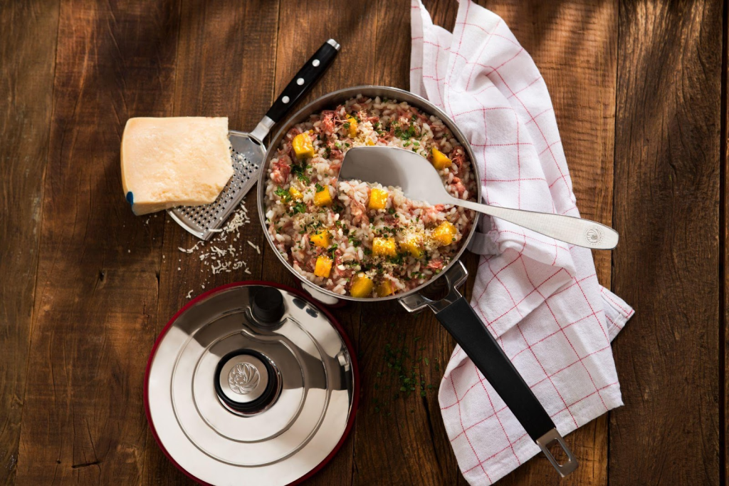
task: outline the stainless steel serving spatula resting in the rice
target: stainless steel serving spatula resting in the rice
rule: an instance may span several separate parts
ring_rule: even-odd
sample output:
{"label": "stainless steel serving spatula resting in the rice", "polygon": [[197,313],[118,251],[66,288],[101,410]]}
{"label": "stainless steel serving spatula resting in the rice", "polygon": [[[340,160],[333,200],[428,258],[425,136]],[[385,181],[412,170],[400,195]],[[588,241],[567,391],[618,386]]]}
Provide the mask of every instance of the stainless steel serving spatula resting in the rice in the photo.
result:
{"label": "stainless steel serving spatula resting in the rice", "polygon": [[399,147],[349,149],[342,161],[339,178],[399,187],[406,197],[415,201],[466,207],[580,247],[612,250],[617,245],[617,231],[595,221],[454,198],[443,186],[438,171],[426,158]]}

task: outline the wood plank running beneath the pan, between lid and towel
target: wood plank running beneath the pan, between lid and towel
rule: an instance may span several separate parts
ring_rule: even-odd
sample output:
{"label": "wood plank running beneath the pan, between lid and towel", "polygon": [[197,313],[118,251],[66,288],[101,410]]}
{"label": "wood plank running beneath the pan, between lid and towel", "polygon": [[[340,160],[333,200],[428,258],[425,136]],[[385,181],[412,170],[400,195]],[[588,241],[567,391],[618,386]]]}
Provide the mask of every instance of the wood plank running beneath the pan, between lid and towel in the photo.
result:
{"label": "wood plank running beneath the pan, between lid and towel", "polygon": [[[436,22],[455,21],[456,2],[430,1],[426,7]],[[382,2],[376,15],[374,82],[407,90],[410,2]],[[448,332],[431,312],[408,315],[397,302],[389,302],[362,306],[359,335],[363,387],[354,484],[453,484],[457,465],[437,401],[440,377],[453,350]],[[391,374],[398,364],[402,370]],[[409,396],[400,391],[405,384],[399,374],[413,371],[426,385],[425,396],[417,386]]]}

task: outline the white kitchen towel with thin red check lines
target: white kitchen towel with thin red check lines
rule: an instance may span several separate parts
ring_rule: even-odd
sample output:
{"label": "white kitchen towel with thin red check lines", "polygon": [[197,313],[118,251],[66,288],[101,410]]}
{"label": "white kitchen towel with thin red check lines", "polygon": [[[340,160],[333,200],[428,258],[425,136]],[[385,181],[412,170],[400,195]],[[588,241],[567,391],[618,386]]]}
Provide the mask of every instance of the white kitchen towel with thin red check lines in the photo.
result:
{"label": "white kitchen towel with thin red check lines", "polygon": [[[411,20],[410,90],[464,131],[485,202],[579,216],[547,86],[504,21],[468,0],[453,33],[420,0]],[[633,309],[599,285],[590,250],[502,220],[483,218],[479,229],[471,305],[558,430],[622,405],[610,342]],[[438,400],[469,484],[490,485],[539,452],[460,347]]]}

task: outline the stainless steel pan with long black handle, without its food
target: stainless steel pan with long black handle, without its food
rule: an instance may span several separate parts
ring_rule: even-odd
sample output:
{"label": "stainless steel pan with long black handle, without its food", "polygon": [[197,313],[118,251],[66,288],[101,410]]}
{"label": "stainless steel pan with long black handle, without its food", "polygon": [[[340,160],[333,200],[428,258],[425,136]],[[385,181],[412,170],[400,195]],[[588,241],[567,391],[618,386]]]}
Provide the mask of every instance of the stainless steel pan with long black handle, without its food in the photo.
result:
{"label": "stainless steel pan with long black handle, without its food", "polygon": [[[471,306],[468,304],[464,296],[457,290],[465,281],[468,276],[466,267],[459,260],[463,252],[466,250],[468,243],[470,242],[475,230],[477,217],[471,227],[471,231],[467,238],[462,240],[461,249],[456,256],[451,260],[451,263],[443,269],[436,277],[433,277],[428,282],[420,285],[418,288],[409,290],[405,293],[399,293],[394,296],[380,297],[380,298],[356,298],[352,296],[342,296],[338,293],[333,293],[330,290],[324,290],[318,285],[314,285],[307,279],[302,277],[297,271],[292,269],[289,263],[284,260],[281,254],[276,250],[273,244],[273,240],[268,234],[268,226],[265,222],[265,186],[266,177],[268,174],[268,166],[270,165],[271,158],[276,153],[276,147],[281,143],[281,139],[284,138],[286,132],[289,131],[297,123],[306,120],[309,115],[317,112],[321,112],[323,109],[335,107],[337,104],[342,103],[348,99],[353,98],[362,94],[364,96],[380,96],[381,98],[397,99],[397,101],[407,101],[413,107],[418,107],[423,112],[431,115],[436,115],[443,120],[448,128],[451,129],[453,135],[463,145],[466,153],[471,161],[475,161],[473,150],[464,134],[459,130],[458,126],[453,123],[448,115],[443,112],[440,108],[430,103],[426,99],[416,96],[408,91],[400,90],[397,88],[389,88],[386,86],[356,86],[354,88],[345,88],[329,93],[321,98],[312,101],[300,109],[295,115],[289,118],[278,133],[270,142],[272,150],[268,151],[266,159],[262,164],[262,168],[259,174],[258,180],[258,214],[260,216],[261,225],[263,227],[263,233],[266,235],[268,244],[273,248],[273,252],[276,253],[281,263],[286,266],[289,271],[299,279],[303,285],[303,288],[308,291],[314,298],[325,304],[336,304],[340,300],[348,301],[362,301],[362,302],[378,302],[388,301],[397,299],[399,303],[405,307],[408,312],[418,312],[426,307],[429,307],[435,316],[443,326],[448,329],[456,342],[461,345],[461,348],[475,363],[478,369],[488,379],[488,382],[499,393],[499,396],[504,400],[509,409],[519,420],[521,425],[529,433],[529,436],[534,440],[542,452],[545,453],[547,459],[552,463],[554,468],[558,471],[561,476],[570,474],[577,468],[577,460],[572,455],[572,452],[567,447],[564,439],[558,433],[552,419],[549,414],[545,411],[542,404],[539,404],[537,397],[531,392],[529,385],[526,385],[521,375],[516,371],[511,361],[504,354],[503,350],[496,343],[494,336],[486,329],[480,318],[477,317],[473,312]],[[477,180],[480,180],[478,174],[478,167],[476,163],[472,163],[472,169],[475,172]],[[481,200],[481,188],[477,185],[477,201]],[[445,279],[448,285],[448,295],[445,298],[434,301],[427,298],[423,290],[428,285],[432,285],[438,279]],[[554,458],[550,450],[547,448],[551,444],[558,443],[559,446],[564,450],[567,460],[560,464]]]}

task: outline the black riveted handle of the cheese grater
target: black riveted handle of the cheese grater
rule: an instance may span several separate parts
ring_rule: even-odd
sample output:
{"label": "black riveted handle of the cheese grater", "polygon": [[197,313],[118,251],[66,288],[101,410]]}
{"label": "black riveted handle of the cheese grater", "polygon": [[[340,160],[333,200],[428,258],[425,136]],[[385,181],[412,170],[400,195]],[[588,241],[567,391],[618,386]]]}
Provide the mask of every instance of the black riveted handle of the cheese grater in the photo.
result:
{"label": "black riveted handle of the cheese grater", "polygon": [[324,42],[319,47],[319,50],[299,69],[294,79],[286,85],[286,88],[284,88],[281,94],[278,95],[278,98],[273,102],[273,106],[270,107],[266,116],[273,120],[274,123],[281,121],[284,115],[296,103],[297,99],[306,93],[316,80],[319,80],[321,74],[324,74],[324,71],[334,61],[338,52],[339,43],[337,41],[329,39],[327,42]]}

